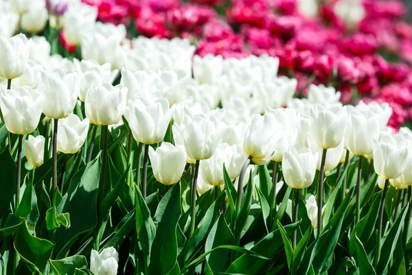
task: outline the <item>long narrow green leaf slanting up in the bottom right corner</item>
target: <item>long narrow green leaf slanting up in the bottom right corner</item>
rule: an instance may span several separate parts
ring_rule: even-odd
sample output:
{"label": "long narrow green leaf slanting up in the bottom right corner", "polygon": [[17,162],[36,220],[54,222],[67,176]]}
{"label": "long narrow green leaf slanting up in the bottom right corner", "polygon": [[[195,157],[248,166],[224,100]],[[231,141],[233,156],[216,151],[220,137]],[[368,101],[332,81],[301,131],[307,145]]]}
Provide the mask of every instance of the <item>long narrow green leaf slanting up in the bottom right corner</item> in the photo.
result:
{"label": "long narrow green leaf slanting up in the bottom right corner", "polygon": [[400,236],[400,232],[402,232],[403,221],[405,219],[405,216],[407,215],[407,210],[408,205],[402,209],[402,212],[400,212],[399,216],[396,218],[395,222],[389,229],[389,232],[387,232],[387,235],[385,236],[382,248],[380,249],[379,263],[375,268],[376,274],[384,274],[387,266],[389,265],[389,261],[391,261],[393,251],[396,248],[396,243],[398,242],[398,238]]}

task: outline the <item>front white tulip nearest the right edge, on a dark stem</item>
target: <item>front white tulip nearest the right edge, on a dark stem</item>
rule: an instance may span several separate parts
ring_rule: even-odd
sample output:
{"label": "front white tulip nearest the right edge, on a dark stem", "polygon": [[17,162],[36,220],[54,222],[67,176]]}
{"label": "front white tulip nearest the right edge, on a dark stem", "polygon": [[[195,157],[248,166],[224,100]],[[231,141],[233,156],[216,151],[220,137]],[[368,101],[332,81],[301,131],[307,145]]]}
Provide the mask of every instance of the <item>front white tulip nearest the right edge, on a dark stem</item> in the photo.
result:
{"label": "front white tulip nearest the right edge, on a dark stem", "polygon": [[407,167],[409,148],[400,135],[384,135],[380,141],[374,140],[374,168],[384,179],[396,179]]}

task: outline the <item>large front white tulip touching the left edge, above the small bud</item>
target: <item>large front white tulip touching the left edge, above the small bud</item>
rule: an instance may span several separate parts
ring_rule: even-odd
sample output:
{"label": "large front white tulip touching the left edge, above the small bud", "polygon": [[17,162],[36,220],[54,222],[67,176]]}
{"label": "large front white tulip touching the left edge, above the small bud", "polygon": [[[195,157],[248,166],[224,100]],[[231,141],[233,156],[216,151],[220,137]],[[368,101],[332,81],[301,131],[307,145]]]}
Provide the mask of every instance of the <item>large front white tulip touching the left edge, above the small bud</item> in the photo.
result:
{"label": "large front white tulip touching the left edge, above the small bud", "polygon": [[33,133],[40,120],[44,98],[38,89],[17,87],[3,92],[0,107],[10,133]]}

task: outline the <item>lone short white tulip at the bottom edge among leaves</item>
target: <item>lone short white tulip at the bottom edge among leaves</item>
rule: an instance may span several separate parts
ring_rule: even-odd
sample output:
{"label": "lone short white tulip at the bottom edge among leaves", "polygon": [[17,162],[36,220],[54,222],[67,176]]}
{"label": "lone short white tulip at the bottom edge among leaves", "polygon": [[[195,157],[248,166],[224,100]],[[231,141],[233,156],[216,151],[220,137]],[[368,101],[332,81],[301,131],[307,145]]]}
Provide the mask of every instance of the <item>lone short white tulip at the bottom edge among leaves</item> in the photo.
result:
{"label": "lone short white tulip at the bottom edge among leaves", "polygon": [[119,254],[115,248],[104,248],[102,252],[91,250],[90,271],[94,275],[115,275],[119,262]]}

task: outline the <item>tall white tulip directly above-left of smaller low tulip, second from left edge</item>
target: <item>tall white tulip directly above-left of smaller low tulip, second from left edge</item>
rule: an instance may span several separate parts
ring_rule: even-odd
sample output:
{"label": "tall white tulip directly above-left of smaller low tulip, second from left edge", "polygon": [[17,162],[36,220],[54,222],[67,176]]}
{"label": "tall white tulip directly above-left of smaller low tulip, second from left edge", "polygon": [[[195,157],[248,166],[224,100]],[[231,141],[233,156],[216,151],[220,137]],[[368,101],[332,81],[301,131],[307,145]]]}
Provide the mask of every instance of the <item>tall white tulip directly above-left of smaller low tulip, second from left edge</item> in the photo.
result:
{"label": "tall white tulip directly above-left of smaller low tulip, second from left edge", "polygon": [[61,71],[43,71],[38,89],[45,96],[43,113],[49,118],[66,118],[76,106],[80,81],[76,73],[65,75]]}

